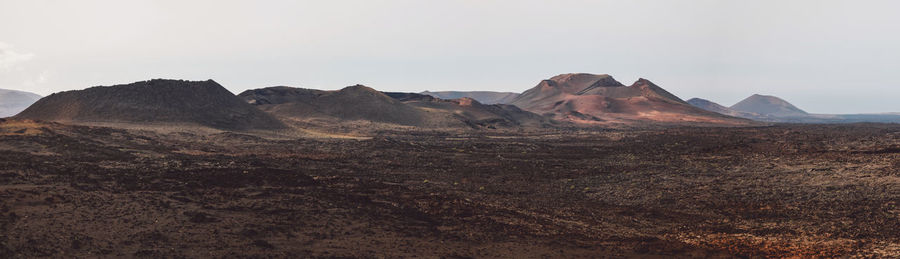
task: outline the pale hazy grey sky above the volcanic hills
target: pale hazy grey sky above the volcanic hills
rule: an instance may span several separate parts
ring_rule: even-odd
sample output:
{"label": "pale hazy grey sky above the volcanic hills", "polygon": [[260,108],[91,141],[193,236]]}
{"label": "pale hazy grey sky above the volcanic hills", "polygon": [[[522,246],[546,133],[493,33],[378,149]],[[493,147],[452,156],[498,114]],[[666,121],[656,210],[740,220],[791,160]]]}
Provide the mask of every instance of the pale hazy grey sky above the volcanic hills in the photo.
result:
{"label": "pale hazy grey sky above the volcanic hills", "polygon": [[0,0],[0,88],[152,78],[522,92],[646,78],[730,106],[900,112],[900,1]]}

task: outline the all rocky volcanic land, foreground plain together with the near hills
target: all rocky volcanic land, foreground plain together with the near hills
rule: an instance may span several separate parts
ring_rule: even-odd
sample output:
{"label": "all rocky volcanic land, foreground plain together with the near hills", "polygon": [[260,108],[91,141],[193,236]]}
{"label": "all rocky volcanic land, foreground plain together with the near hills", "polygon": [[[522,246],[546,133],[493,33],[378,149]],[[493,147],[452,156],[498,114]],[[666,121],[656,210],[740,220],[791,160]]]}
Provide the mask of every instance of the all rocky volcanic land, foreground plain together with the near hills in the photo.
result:
{"label": "all rocky volcanic land, foreground plain together with the near hills", "polygon": [[590,74],[513,103],[53,94],[0,119],[0,258],[900,257],[900,124],[757,123]]}

